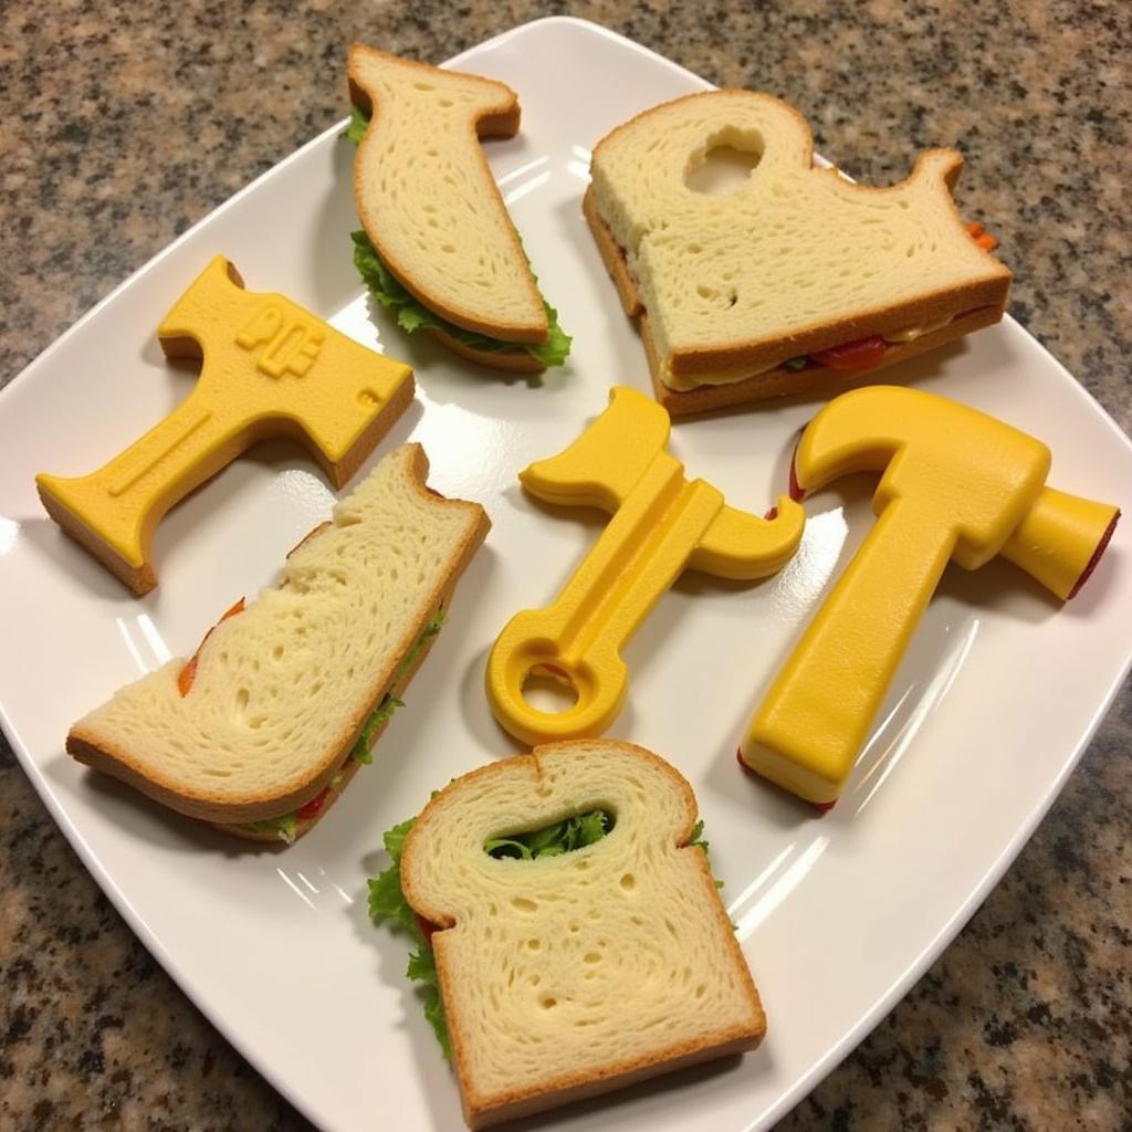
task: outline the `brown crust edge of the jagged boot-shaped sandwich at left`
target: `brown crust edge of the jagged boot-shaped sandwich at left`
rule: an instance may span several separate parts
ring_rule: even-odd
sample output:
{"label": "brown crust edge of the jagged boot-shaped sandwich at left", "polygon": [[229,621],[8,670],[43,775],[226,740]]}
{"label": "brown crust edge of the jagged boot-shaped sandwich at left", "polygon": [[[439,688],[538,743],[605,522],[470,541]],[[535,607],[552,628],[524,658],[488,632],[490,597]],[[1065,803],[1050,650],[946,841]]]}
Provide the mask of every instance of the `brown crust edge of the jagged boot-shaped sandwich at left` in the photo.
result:
{"label": "brown crust edge of the jagged boot-shaped sandwich at left", "polygon": [[[402,655],[408,653],[420,638],[434,610],[443,604],[446,594],[451,593],[491,525],[487,513],[479,504],[439,498],[435,492],[429,491],[424,482],[428,474],[428,457],[424,455],[423,448],[419,444],[406,447],[410,449],[411,489],[423,500],[427,500],[429,506],[454,507],[474,514],[477,523],[453,555],[453,564],[446,578],[428,595],[427,600],[421,601],[421,611],[405,633],[404,648],[401,650]],[[173,667],[180,663],[174,661],[166,668],[172,671]],[[207,663],[207,652],[201,654],[200,663]],[[177,670],[179,671],[179,668]],[[406,681],[411,675],[411,672],[406,675]],[[386,675],[383,675],[379,680],[375,680],[371,693],[350,726],[342,734],[329,737],[325,751],[320,755],[312,756],[310,771],[303,781],[268,797],[246,795],[233,798],[230,794],[208,789],[197,789],[191,794],[186,792],[179,783],[156,774],[152,767],[147,767],[131,752],[105,739],[100,741],[84,731],[82,721],[68,732],[66,746],[68,754],[78,762],[120,779],[140,794],[188,817],[220,825],[242,825],[249,822],[267,821],[299,809],[329,784],[331,779],[338,773],[349,758],[362,726],[379,706],[388,686],[388,676]]]}

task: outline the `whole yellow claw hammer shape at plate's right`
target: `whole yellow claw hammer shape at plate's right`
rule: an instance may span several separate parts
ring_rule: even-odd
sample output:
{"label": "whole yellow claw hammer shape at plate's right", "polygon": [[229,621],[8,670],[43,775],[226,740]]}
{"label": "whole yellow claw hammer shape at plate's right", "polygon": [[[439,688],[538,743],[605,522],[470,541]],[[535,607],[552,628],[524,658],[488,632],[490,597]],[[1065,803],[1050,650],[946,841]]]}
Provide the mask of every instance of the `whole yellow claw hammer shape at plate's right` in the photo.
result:
{"label": "whole yellow claw hammer shape at plate's right", "polygon": [[882,472],[877,521],[755,712],[740,761],[835,801],[949,561],[977,569],[1001,554],[1072,598],[1120,511],[1046,487],[1049,461],[1034,437],[931,393],[874,386],[830,402],[798,444],[791,492]]}

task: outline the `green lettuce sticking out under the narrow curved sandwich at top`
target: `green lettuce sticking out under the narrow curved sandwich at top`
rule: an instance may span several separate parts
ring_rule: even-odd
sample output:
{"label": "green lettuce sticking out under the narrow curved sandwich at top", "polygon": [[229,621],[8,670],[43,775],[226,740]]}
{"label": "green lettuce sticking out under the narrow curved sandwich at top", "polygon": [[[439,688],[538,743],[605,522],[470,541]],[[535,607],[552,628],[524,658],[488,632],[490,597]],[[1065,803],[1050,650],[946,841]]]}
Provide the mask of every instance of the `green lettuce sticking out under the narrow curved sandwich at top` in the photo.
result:
{"label": "green lettuce sticking out under the narrow curved sandwich at top", "polygon": [[[358,145],[366,134],[368,125],[369,115],[358,106],[351,106],[350,125],[342,136]],[[541,344],[505,342],[486,334],[477,334],[474,331],[464,329],[464,327],[441,318],[417,299],[381,261],[366,232],[360,230],[351,232],[350,238],[354,242],[354,267],[358,268],[358,274],[361,275],[369,293],[374,297],[375,302],[396,311],[397,326],[408,334],[421,329],[438,331],[479,353],[526,352],[543,366],[565,363],[572,340],[558,323],[558,311],[547,302],[546,298],[542,298],[542,307],[550,327],[546,342]],[[537,278],[534,282],[538,284]]]}

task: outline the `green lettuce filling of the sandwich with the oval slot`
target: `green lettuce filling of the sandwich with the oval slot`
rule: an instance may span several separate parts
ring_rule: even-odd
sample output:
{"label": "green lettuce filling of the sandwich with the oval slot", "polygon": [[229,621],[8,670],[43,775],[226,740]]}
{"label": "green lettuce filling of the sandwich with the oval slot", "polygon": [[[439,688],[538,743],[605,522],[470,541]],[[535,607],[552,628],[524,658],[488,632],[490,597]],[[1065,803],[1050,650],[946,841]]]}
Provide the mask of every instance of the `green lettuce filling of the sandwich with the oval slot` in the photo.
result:
{"label": "green lettuce filling of the sandwich with the oval slot", "polygon": [[[555,822],[538,830],[516,833],[511,837],[491,838],[483,844],[483,851],[497,860],[535,860],[539,857],[557,857],[574,849],[593,844],[609,833],[615,824],[612,814],[603,809],[593,809],[584,814],[575,814],[564,821]],[[448,1023],[444,1013],[444,1000],[440,995],[440,979],[436,969],[436,955],[432,952],[432,933],[435,924],[418,916],[405,899],[401,887],[401,855],[405,838],[415,824],[417,818],[410,817],[400,825],[394,825],[385,834],[385,851],[389,855],[389,867],[369,881],[369,915],[375,924],[393,920],[400,925],[413,942],[417,950],[409,955],[409,968],[405,975],[411,981],[421,984],[421,1005],[424,1017],[432,1027],[445,1061],[452,1060],[452,1041],[448,1036]],[[698,846],[711,863],[707,842],[703,839],[703,822],[696,822],[692,830],[688,844]],[[723,886],[717,881],[718,889]]]}

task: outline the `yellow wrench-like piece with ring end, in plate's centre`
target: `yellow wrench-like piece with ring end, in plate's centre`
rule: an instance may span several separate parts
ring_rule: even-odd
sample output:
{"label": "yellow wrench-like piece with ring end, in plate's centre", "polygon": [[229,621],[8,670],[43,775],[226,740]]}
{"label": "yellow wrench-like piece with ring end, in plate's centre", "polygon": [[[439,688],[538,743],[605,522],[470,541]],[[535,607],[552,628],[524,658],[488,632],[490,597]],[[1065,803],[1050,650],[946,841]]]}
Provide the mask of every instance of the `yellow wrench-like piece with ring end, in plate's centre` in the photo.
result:
{"label": "yellow wrench-like piece with ring end, in plate's centre", "polygon": [[[555,603],[516,614],[488,658],[496,719],[525,743],[590,738],[612,722],[628,683],[621,650],[683,571],[766,577],[798,547],[799,504],[783,496],[773,520],[729,507],[719,489],[685,479],[666,451],[669,427],[654,401],[619,386],[573,445],[520,475],[548,503],[612,515]],[[563,712],[532,706],[523,695],[531,674],[569,684],[576,703]]]}

